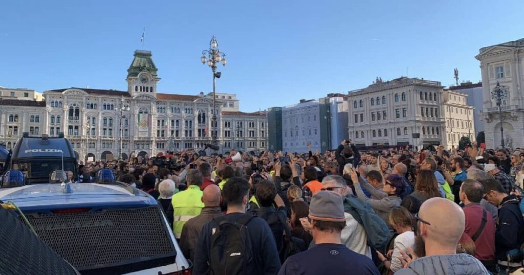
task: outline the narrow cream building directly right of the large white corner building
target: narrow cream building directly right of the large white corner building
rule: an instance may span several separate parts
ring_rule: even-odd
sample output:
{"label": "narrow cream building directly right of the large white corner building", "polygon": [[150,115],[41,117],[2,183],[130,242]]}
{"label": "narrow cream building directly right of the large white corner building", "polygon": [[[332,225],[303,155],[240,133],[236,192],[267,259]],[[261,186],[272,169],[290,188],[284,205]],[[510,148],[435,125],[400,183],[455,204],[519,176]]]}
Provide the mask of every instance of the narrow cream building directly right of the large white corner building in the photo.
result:
{"label": "narrow cream building directly right of the large white corner building", "polygon": [[474,107],[467,105],[467,94],[453,91],[444,91],[444,115],[446,121],[447,149],[459,147],[462,137],[469,137],[475,141]]}

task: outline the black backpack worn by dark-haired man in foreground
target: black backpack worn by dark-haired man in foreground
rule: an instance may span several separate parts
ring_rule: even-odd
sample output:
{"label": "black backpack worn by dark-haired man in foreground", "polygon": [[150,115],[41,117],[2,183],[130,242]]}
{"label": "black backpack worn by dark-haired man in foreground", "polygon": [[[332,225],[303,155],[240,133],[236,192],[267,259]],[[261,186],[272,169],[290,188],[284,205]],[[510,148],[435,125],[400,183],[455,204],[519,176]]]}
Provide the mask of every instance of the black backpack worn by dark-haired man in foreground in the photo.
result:
{"label": "black backpack worn by dark-haired man in foreground", "polygon": [[253,245],[246,226],[252,218],[252,215],[246,214],[236,222],[227,221],[225,216],[213,219],[216,227],[212,230],[216,232],[211,237],[210,274],[256,273]]}

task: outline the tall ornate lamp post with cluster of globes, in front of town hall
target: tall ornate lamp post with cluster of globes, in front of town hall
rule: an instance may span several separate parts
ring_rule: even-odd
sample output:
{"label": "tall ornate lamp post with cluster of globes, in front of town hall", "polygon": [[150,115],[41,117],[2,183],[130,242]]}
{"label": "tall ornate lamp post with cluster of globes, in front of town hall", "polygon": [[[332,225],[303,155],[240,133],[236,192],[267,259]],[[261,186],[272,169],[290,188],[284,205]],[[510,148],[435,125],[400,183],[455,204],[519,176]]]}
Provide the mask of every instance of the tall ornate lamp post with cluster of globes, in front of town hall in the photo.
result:
{"label": "tall ornate lamp post with cluster of globes, in front of town hall", "polygon": [[[211,67],[211,70],[213,72],[213,116],[211,117],[212,123],[212,129],[217,128],[216,124],[216,107],[215,107],[215,80],[217,78],[220,78],[220,72],[216,72],[216,63],[222,63],[222,65],[226,65],[226,55],[225,53],[221,52],[219,50],[219,42],[216,40],[216,37],[212,37],[211,41],[209,42],[209,50],[203,50],[202,51],[202,57],[200,58],[200,61],[202,64],[208,63],[208,66]],[[214,127],[213,127],[214,126]],[[216,141],[216,129],[211,131],[211,138],[213,139],[213,145],[217,145]]]}

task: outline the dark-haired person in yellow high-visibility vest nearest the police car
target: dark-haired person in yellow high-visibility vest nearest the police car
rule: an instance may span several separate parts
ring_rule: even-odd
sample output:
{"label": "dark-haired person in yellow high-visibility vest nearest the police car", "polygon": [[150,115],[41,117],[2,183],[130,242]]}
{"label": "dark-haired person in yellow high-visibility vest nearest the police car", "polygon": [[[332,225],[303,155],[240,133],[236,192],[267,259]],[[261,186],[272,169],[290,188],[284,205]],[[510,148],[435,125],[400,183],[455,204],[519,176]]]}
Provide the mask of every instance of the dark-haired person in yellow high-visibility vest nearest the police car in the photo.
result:
{"label": "dark-haired person in yellow high-visibility vest nearest the police car", "polygon": [[203,192],[200,190],[203,177],[198,170],[190,170],[185,176],[188,189],[174,194],[171,200],[173,204],[173,233],[179,239],[182,228],[190,218],[198,216],[204,207],[202,202]]}

